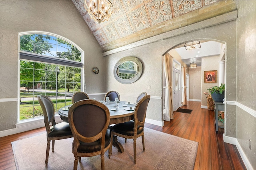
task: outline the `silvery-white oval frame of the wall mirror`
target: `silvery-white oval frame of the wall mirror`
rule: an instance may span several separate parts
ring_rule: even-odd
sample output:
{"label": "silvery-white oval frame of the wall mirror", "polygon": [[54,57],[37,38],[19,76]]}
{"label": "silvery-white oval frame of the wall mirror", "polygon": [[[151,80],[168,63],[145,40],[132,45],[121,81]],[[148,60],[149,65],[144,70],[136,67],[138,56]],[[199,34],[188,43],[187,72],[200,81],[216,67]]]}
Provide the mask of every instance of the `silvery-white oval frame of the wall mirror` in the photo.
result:
{"label": "silvery-white oval frame of the wall mirror", "polygon": [[[126,61],[132,61],[132,62],[136,63],[138,66],[137,74],[133,78],[130,78],[130,79],[122,79],[117,74],[117,70],[118,70],[118,67],[120,66],[120,64],[122,64]],[[116,80],[118,82],[120,82],[122,84],[130,84],[130,83],[136,82],[140,78],[142,72],[143,72],[143,66],[142,66],[141,61],[137,57],[132,57],[132,56],[124,57],[124,58],[120,59],[114,67],[114,77],[116,78]]]}

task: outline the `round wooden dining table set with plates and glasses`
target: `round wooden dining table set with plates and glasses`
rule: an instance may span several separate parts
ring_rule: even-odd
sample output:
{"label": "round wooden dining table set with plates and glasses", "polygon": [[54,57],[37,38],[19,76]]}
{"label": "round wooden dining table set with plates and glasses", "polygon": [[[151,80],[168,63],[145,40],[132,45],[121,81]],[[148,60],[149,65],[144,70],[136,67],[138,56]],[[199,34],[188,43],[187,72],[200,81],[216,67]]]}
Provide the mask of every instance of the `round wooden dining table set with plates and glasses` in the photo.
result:
{"label": "round wooden dining table set with plates and glasses", "polygon": [[[103,102],[103,104],[105,104],[108,107],[110,112],[110,128],[113,124],[123,123],[133,119],[133,112],[136,103],[120,101],[118,104],[118,108],[116,107],[115,101],[109,101],[108,103]],[[60,118],[65,122],[68,122],[68,109],[71,106],[72,104],[58,109],[57,113],[60,115]],[[116,147],[119,152],[124,152],[124,148],[122,144],[118,142],[116,136],[113,136],[113,146]]]}

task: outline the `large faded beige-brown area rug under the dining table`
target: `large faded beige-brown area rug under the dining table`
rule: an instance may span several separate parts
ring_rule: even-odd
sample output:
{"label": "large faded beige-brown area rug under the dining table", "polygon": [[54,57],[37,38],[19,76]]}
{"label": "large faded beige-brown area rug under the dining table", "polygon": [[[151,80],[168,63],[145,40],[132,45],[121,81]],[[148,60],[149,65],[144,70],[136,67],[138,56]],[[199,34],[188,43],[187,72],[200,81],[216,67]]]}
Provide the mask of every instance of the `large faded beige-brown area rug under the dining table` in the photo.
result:
{"label": "large faded beige-brown area rug under the dining table", "polygon": [[[137,162],[134,164],[133,140],[118,137],[124,147],[120,153],[113,147],[111,158],[105,152],[105,170],[193,170],[198,143],[145,128],[145,152],[142,139],[137,144]],[[54,152],[49,154],[45,166],[46,133],[12,142],[12,150],[17,170],[71,170],[74,165],[72,154],[73,138],[55,141]],[[52,144],[52,143],[51,143]],[[82,157],[78,170],[100,170],[100,155]]]}

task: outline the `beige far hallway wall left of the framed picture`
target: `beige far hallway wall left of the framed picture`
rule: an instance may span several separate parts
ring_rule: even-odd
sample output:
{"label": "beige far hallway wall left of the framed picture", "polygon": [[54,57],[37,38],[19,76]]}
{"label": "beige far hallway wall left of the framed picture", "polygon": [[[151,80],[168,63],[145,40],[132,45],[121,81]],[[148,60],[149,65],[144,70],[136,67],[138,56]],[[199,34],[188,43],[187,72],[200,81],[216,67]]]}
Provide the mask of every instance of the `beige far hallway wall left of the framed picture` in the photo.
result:
{"label": "beige far hallway wall left of the framed picture", "polygon": [[201,66],[189,68],[189,99],[201,100]]}

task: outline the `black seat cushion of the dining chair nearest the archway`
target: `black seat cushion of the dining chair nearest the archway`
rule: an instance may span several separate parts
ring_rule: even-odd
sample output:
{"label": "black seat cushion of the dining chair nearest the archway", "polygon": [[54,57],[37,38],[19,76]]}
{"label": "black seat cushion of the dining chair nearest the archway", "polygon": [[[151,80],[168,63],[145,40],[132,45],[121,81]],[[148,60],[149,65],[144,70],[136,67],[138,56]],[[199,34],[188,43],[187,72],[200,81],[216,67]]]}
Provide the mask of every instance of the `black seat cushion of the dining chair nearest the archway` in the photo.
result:
{"label": "black seat cushion of the dining chair nearest the archway", "polygon": [[[134,136],[133,127],[134,127],[134,121],[130,120],[124,123],[118,123],[114,125],[113,127],[111,127],[111,131],[122,134],[122,135],[126,135],[126,136]],[[138,126],[137,134],[142,133],[143,130],[144,130],[143,126]]]}

